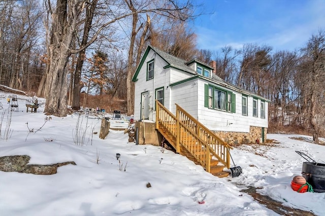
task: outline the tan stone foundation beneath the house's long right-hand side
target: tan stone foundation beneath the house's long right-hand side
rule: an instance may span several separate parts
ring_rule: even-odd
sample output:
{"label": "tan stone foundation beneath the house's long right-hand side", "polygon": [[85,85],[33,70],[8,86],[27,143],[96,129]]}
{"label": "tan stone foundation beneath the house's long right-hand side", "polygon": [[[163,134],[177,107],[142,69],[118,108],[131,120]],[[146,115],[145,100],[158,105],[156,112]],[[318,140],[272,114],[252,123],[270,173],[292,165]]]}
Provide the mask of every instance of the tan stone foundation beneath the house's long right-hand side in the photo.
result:
{"label": "tan stone foundation beneath the house's long right-hand side", "polygon": [[263,140],[266,140],[268,128],[264,127],[264,139],[262,138],[262,129],[262,127],[250,126],[249,133],[220,131],[213,131],[213,133],[230,145],[253,144],[263,143]]}

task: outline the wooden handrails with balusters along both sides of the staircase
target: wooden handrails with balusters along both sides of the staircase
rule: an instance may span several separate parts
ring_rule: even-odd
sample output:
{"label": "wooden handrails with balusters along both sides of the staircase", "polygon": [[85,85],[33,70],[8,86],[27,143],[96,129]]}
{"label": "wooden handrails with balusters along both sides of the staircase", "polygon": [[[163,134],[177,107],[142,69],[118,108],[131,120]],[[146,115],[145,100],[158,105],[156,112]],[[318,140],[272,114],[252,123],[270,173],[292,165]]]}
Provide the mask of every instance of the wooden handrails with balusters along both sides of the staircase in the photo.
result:
{"label": "wooden handrails with balusters along both sides of the staircase", "polygon": [[209,131],[177,104],[176,116],[156,100],[156,122],[163,125],[176,138],[176,152],[185,147],[200,164],[210,172],[210,156],[213,155],[226,167],[230,167],[230,154],[226,143]]}

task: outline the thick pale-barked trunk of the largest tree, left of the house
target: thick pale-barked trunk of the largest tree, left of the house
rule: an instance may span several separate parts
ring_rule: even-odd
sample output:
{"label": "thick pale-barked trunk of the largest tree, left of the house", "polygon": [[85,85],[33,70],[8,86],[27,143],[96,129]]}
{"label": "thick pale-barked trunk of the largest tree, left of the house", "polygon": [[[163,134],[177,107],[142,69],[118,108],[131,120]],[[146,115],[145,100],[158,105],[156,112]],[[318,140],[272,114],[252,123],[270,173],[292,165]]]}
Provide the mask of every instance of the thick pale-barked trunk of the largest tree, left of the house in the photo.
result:
{"label": "thick pale-barked trunk of the largest tree, left of the house", "polygon": [[52,13],[53,21],[49,45],[49,92],[44,109],[47,115],[62,117],[68,114],[68,63],[71,56],[71,41],[77,26],[77,19],[82,10],[83,1],[70,0],[68,2],[68,0],[57,0],[56,11]]}

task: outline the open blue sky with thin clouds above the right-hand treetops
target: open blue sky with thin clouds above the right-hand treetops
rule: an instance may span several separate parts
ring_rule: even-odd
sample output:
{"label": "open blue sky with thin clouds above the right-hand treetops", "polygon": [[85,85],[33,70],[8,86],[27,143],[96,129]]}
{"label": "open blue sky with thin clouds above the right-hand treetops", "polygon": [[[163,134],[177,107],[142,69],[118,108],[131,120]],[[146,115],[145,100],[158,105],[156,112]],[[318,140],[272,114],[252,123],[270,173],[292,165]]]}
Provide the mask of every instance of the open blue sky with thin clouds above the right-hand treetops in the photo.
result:
{"label": "open blue sky with thin clouds above the right-hand treetops", "polygon": [[206,13],[192,30],[199,49],[225,45],[269,45],[274,51],[303,47],[313,33],[325,30],[325,0],[197,0]]}

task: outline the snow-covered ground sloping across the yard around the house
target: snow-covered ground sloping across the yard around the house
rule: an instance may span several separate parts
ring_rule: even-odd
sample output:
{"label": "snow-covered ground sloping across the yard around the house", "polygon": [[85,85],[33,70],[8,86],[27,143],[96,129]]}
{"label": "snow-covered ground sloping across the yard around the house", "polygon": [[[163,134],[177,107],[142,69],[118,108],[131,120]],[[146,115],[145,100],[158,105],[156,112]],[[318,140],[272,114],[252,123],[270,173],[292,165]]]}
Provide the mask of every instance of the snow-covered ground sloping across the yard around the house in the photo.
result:
{"label": "snow-covered ground sloping across the yard around the house", "polygon": [[[243,174],[219,179],[172,151],[128,143],[123,131],[111,130],[100,139],[96,117],[80,117],[82,130],[87,131],[84,145],[76,145],[77,114],[51,116],[44,124],[44,99],[38,99],[37,113],[26,113],[31,98],[17,95],[18,111],[10,114],[8,96],[0,92],[0,156],[26,154],[29,164],[77,165],[58,167],[50,176],[0,171],[0,215],[278,215],[240,192],[247,186],[261,188],[257,192],[283,205],[325,215],[325,193],[297,193],[290,187],[305,161],[296,150],[325,163],[325,146],[309,142],[310,137],[269,134],[268,139],[278,144],[236,147],[231,153]],[[4,139],[8,127],[10,136]]]}

